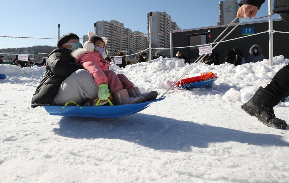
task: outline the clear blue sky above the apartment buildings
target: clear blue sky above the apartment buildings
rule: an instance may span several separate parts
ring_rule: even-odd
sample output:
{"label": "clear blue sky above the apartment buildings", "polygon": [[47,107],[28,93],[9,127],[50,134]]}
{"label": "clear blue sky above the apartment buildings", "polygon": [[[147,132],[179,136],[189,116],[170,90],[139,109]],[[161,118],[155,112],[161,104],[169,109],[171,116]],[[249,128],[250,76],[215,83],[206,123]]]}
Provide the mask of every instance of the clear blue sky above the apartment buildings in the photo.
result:
{"label": "clear blue sky above the apartment buildings", "polygon": [[[219,21],[218,8],[218,0],[2,1],[0,36],[58,38],[60,24],[60,36],[73,32],[82,38],[88,31],[94,31],[94,23],[101,20],[117,20],[132,31],[146,34],[147,13],[155,11],[167,12],[181,29],[216,26]],[[256,17],[264,15],[268,15],[268,1],[262,5]],[[274,15],[274,18],[278,17]],[[0,49],[34,45],[56,46],[56,43],[57,39],[0,37]]]}

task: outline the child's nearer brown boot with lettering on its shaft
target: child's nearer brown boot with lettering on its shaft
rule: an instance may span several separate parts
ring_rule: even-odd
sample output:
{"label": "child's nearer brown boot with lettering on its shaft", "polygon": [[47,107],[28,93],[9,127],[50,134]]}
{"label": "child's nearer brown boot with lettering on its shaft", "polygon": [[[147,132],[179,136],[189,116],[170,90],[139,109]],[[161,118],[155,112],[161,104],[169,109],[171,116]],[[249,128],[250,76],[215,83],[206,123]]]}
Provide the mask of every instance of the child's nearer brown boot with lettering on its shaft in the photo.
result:
{"label": "child's nearer brown boot with lettering on its shaft", "polygon": [[136,98],[129,97],[127,89],[118,90],[114,92],[114,99],[117,105],[135,104],[145,101],[144,97],[136,97]]}

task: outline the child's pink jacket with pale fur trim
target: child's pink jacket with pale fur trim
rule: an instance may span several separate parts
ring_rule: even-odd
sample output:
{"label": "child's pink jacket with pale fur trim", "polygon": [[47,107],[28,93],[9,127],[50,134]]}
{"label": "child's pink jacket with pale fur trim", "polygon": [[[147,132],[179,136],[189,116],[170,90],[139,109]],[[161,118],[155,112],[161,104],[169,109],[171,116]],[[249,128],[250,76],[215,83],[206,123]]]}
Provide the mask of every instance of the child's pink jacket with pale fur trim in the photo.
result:
{"label": "child's pink jacket with pale fur trim", "polygon": [[104,60],[98,52],[85,52],[83,48],[78,48],[71,55],[75,58],[75,63],[82,65],[84,69],[93,75],[97,86],[100,83],[108,84],[104,72],[109,70],[108,66],[111,66],[111,64],[107,60]]}

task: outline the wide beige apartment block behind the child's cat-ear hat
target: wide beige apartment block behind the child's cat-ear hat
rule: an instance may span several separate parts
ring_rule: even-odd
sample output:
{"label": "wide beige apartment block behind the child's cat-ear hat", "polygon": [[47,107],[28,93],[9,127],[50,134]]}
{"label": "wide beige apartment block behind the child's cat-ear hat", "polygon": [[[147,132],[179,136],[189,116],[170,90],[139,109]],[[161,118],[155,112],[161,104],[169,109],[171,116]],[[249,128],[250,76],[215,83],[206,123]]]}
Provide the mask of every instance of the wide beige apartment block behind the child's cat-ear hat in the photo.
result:
{"label": "wide beige apartment block behind the child's cat-ear hat", "polygon": [[[116,20],[96,22],[96,35],[108,38],[106,49],[109,52],[134,51],[147,49],[147,36],[144,33],[125,28],[123,23]],[[84,42],[88,36],[83,36]]]}

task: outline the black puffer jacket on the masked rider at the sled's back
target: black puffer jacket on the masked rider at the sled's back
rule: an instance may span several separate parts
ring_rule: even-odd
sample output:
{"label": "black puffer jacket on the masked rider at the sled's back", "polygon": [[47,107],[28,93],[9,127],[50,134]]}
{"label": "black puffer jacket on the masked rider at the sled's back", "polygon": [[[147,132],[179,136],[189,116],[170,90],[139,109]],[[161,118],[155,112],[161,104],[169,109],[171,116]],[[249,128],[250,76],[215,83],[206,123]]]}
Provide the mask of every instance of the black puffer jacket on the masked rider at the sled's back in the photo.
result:
{"label": "black puffer jacket on the masked rider at the sled's back", "polygon": [[65,48],[53,50],[46,61],[46,72],[31,101],[31,107],[50,105],[58,93],[61,83],[83,66],[74,63],[71,51]]}

